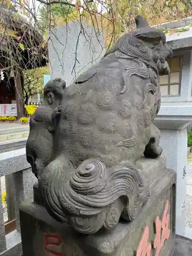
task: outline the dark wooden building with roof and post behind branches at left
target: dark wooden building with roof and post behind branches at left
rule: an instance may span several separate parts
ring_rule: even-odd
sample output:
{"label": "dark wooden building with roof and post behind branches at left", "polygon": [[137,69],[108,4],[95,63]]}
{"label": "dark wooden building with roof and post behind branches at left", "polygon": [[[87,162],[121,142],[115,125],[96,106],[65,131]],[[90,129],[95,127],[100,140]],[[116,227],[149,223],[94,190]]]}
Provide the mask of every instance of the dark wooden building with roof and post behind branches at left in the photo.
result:
{"label": "dark wooden building with roof and post behind branches at left", "polygon": [[[47,65],[42,35],[16,9],[0,7],[0,116],[24,116],[23,71]],[[1,31],[3,33],[1,33]]]}

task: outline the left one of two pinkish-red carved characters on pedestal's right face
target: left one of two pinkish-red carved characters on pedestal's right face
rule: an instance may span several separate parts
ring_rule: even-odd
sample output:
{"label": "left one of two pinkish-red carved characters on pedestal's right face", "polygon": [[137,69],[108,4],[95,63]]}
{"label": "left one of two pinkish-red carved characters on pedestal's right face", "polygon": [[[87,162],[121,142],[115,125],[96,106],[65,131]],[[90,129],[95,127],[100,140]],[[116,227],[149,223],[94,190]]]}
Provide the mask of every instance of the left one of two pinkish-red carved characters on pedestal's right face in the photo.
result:
{"label": "left one of two pinkish-red carved characters on pedestal's right face", "polygon": [[146,226],[143,236],[141,238],[141,242],[137,249],[136,256],[151,256],[152,245],[151,243],[148,243],[149,233],[150,233],[150,229],[148,228],[148,226]]}

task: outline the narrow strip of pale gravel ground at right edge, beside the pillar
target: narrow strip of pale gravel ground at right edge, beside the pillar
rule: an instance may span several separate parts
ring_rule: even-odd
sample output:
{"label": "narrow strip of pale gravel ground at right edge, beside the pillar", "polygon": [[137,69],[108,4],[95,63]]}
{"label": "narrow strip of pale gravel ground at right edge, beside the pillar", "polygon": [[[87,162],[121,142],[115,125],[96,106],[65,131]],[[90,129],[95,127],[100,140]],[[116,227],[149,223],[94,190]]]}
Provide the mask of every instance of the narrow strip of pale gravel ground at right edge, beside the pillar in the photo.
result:
{"label": "narrow strip of pale gravel ground at right edge, beside the pillar", "polygon": [[185,202],[185,225],[192,228],[192,154],[188,156],[187,197]]}

